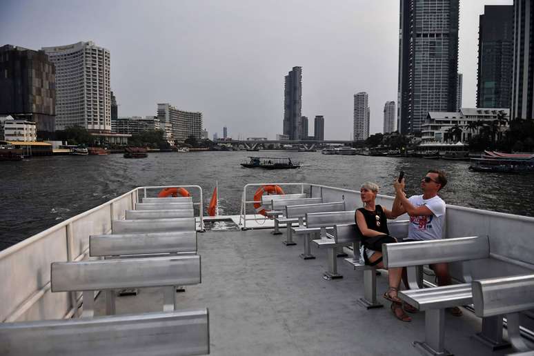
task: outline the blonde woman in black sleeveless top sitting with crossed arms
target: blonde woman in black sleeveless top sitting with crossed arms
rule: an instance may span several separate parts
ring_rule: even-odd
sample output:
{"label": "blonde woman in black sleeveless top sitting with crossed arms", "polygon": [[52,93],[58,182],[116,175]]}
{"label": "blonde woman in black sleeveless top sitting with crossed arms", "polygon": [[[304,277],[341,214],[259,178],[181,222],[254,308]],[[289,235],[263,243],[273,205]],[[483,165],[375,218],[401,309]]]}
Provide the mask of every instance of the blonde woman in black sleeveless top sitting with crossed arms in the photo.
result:
{"label": "blonde woman in black sleeveless top sitting with crossed arms", "polygon": [[[365,264],[385,269],[382,262],[382,244],[397,242],[394,237],[389,236],[387,219],[395,219],[396,216],[390,210],[375,204],[378,189],[378,185],[370,181],[362,184],[359,192],[364,207],[356,210],[355,221],[357,230],[363,237],[360,254],[364,257]],[[389,289],[384,293],[384,298],[391,301],[391,310],[397,319],[411,322],[412,318],[404,313],[402,300],[397,297],[402,267],[390,268],[388,279]],[[406,304],[405,308],[408,307]]]}

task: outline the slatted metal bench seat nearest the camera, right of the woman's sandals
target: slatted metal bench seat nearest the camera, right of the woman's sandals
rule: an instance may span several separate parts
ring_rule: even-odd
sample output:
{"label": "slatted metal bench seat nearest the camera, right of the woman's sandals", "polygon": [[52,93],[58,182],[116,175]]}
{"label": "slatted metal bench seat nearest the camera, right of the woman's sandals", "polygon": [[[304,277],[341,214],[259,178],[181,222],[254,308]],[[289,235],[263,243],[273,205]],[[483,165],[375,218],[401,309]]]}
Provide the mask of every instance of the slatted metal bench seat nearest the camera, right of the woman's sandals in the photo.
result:
{"label": "slatted metal bench seat nearest the camera, right of the woman's sandals", "polygon": [[471,284],[399,291],[399,298],[419,310],[451,308],[473,302]]}

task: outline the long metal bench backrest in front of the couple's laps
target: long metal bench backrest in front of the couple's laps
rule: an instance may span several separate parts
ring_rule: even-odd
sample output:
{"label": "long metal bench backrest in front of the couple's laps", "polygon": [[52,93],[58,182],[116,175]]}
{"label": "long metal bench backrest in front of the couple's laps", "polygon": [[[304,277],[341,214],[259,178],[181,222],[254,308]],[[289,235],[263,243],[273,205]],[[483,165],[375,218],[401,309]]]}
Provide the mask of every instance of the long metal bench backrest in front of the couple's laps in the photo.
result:
{"label": "long metal bench backrest in front of the couple's laps", "polygon": [[382,245],[384,266],[407,267],[489,257],[487,236]]}

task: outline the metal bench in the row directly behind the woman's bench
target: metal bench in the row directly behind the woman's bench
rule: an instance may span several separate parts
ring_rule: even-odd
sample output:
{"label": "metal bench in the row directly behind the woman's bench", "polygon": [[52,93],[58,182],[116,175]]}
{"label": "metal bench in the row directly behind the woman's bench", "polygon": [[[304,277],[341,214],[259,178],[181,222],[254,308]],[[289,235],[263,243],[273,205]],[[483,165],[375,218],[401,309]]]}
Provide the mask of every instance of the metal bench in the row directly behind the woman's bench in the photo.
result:
{"label": "metal bench in the row directly behind the woman's bench", "polygon": [[[304,227],[291,228],[291,233],[301,235],[304,241],[304,253],[300,255],[303,259],[315,259],[310,249],[310,239],[313,237],[326,238],[326,230],[331,230],[336,224],[352,224],[354,222],[354,211],[335,212],[310,212],[306,214]],[[338,250],[337,257],[346,257],[343,250]]]}

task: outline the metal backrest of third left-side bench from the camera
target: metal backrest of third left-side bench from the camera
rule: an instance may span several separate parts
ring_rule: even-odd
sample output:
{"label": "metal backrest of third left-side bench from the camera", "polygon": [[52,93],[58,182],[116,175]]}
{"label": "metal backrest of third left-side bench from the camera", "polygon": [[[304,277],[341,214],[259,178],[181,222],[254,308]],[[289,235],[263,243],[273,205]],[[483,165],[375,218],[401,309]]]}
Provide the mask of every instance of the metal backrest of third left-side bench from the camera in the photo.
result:
{"label": "metal backrest of third left-side bench from the camera", "polygon": [[119,256],[197,251],[197,232],[91,235],[89,255]]}

